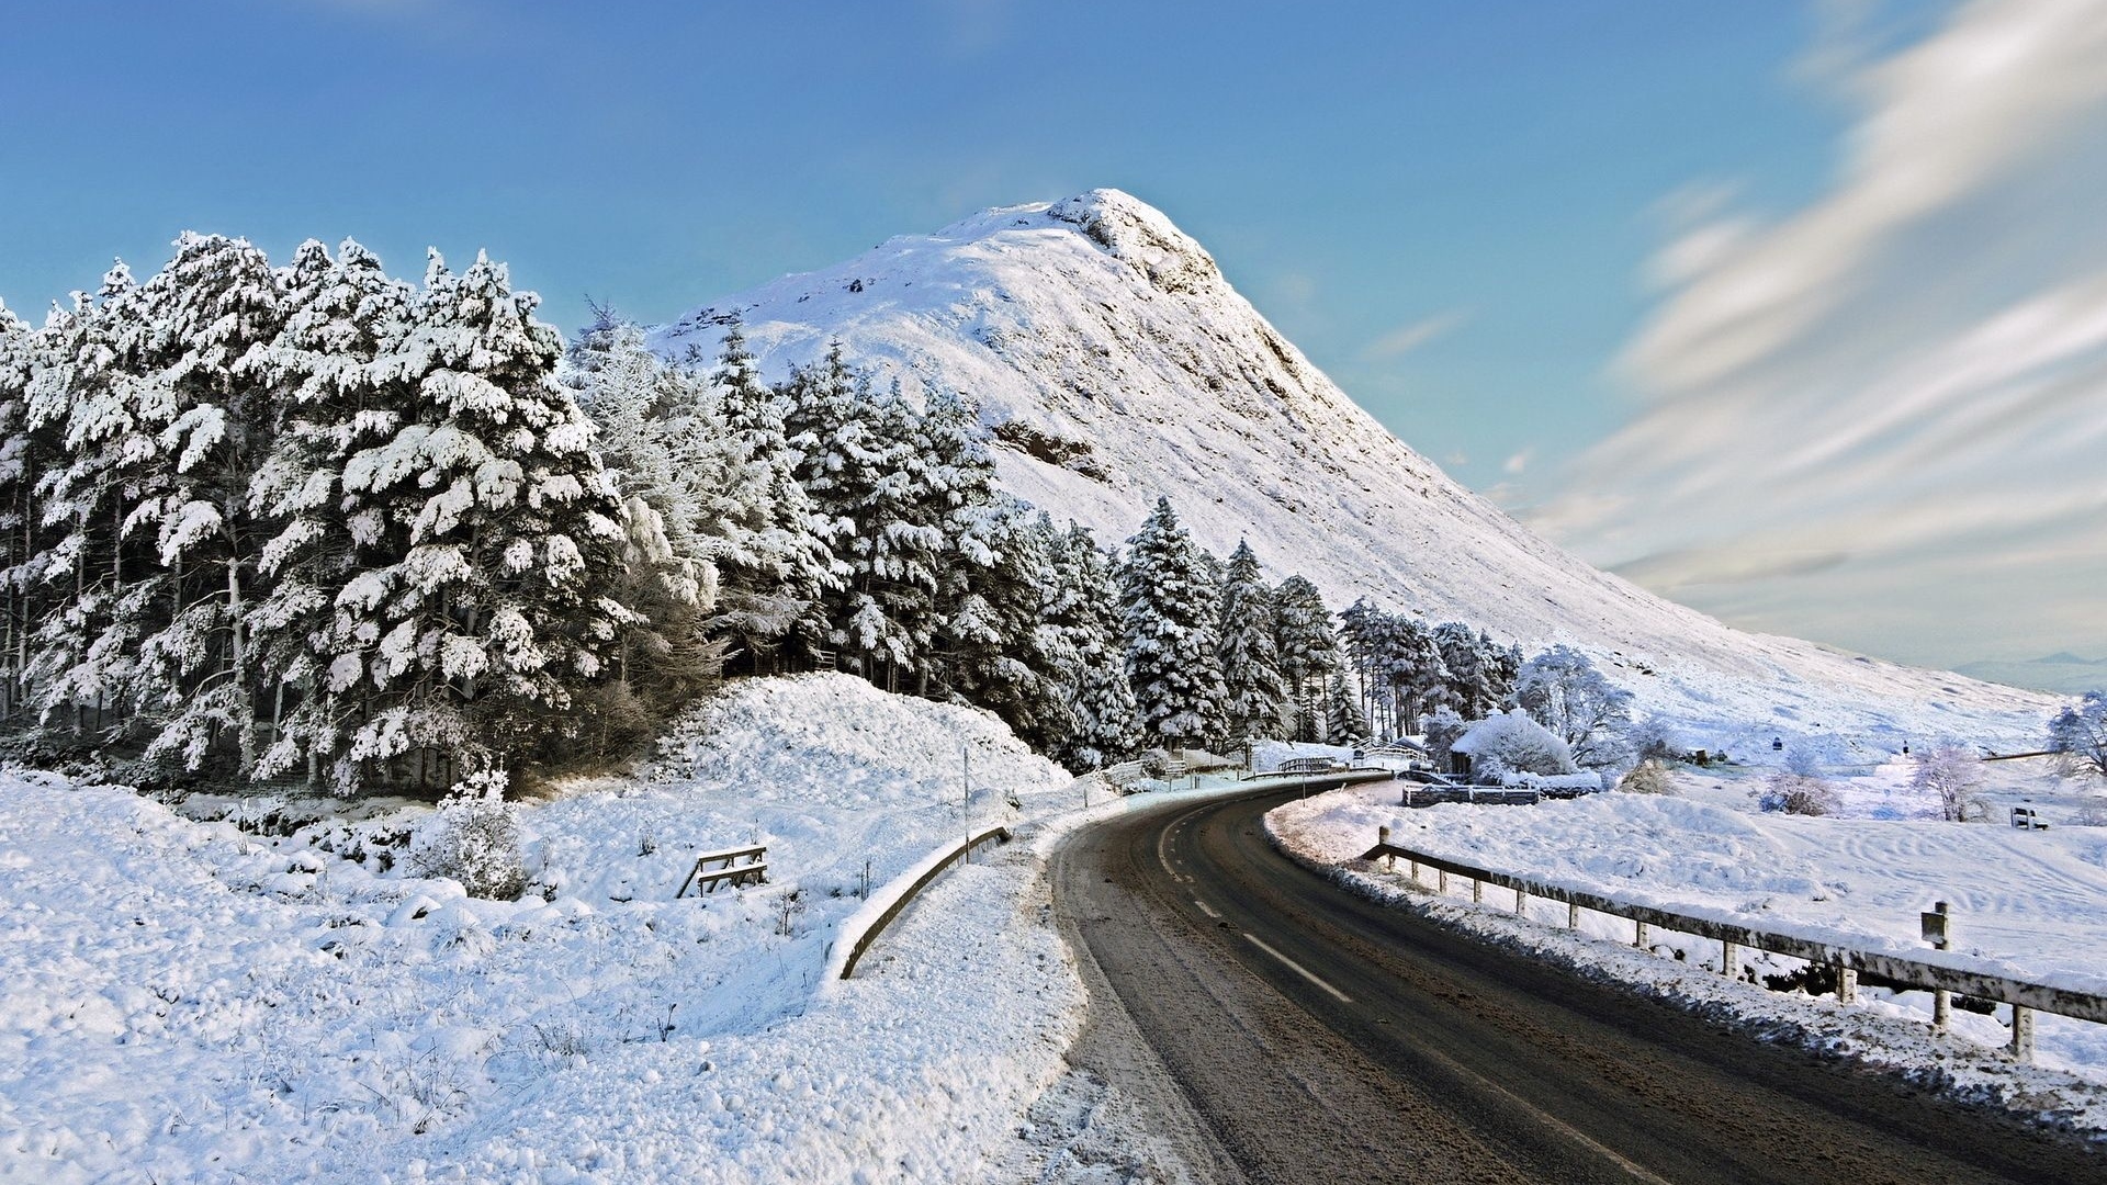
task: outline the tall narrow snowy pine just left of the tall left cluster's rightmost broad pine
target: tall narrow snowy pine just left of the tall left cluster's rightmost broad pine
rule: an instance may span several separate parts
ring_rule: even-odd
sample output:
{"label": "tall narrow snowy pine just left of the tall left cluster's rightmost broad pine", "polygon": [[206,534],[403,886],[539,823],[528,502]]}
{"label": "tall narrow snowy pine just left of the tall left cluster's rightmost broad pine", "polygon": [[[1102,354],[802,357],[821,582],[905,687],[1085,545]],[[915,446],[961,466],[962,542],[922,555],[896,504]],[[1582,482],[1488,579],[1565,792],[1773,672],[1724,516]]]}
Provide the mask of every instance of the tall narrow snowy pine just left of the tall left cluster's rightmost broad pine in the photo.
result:
{"label": "tall narrow snowy pine just left of the tall left cluster's rightmost broad pine", "polygon": [[[400,559],[409,527],[390,514],[390,491],[350,489],[343,472],[354,455],[394,443],[415,411],[411,367],[398,356],[415,289],[354,240],[331,259],[312,238],[284,283],[284,327],[240,365],[276,413],[270,453],[249,483],[265,531],[249,628],[270,700],[255,776],[306,765],[314,778],[343,757],[377,692],[365,656],[381,635],[381,595],[362,571]],[[362,778],[356,765],[337,774],[343,791]]]}

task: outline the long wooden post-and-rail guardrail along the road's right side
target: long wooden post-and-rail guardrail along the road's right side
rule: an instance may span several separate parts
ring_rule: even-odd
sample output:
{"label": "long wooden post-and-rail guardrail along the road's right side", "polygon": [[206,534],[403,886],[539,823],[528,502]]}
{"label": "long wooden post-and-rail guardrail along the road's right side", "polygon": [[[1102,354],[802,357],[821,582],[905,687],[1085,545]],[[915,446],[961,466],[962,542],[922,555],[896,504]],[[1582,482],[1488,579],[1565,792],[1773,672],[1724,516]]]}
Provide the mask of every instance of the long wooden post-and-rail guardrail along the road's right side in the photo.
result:
{"label": "long wooden post-and-rail guardrail along the road's right side", "polygon": [[[1384,833],[1389,829],[1382,829]],[[1485,886],[1500,886],[1515,890],[1515,913],[1521,913],[1528,898],[1540,896],[1547,900],[1563,900],[1568,905],[1566,926],[1580,924],[1580,911],[1593,909],[1595,913],[1608,913],[1612,917],[1629,919],[1633,930],[1633,945],[1646,947],[1648,928],[1675,930],[1679,934],[1692,934],[1698,938],[1711,938],[1721,945],[1719,951],[1719,974],[1734,974],[1734,955],[1738,949],[1747,947],[1751,951],[1768,951],[1774,955],[1787,955],[1795,959],[1806,959],[1810,964],[1825,964],[1837,974],[1837,999],[1850,1004],[1856,997],[1858,974],[1877,976],[1882,980],[1930,991],[1932,995],[1932,1027],[1945,1029],[1951,1010],[1953,995],[1966,995],[1970,999],[1993,999],[1997,1004],[2012,1006],[2012,1044],[2008,1046],[2012,1056],[2019,1061],[2033,1058],[2033,1012],[2054,1012],[2059,1016],[2075,1016],[2078,1021],[2107,1023],[2107,995],[2078,991],[2067,987],[2052,987],[2044,983],[2027,983],[2021,978],[2010,978],[1997,974],[1993,968],[1983,966],[1981,959],[1970,955],[1957,955],[1949,951],[1932,951],[1928,957],[1905,957],[1886,951],[1860,951],[1856,947],[1846,947],[1839,943],[1829,943],[1823,938],[1806,938],[1799,934],[1785,934],[1778,930],[1755,930],[1751,926],[1740,926],[1734,921],[1721,921],[1715,917],[1696,917],[1690,913],[1677,913],[1673,909],[1656,909],[1650,905],[1633,905],[1616,900],[1614,896],[1601,896],[1595,892],[1574,890],[1566,886],[1553,886],[1547,881],[1532,881],[1528,877],[1511,877],[1507,873],[1494,873],[1490,869],[1477,869],[1462,865],[1458,860],[1448,860],[1443,856],[1431,856],[1426,852],[1414,852],[1410,848],[1397,848],[1378,841],[1370,848],[1363,860],[1407,860],[1412,867],[1412,881],[1418,883],[1420,867],[1429,867],[1439,873],[1439,892],[1448,892],[1448,877],[1469,877],[1471,879],[1471,900],[1485,898]]]}

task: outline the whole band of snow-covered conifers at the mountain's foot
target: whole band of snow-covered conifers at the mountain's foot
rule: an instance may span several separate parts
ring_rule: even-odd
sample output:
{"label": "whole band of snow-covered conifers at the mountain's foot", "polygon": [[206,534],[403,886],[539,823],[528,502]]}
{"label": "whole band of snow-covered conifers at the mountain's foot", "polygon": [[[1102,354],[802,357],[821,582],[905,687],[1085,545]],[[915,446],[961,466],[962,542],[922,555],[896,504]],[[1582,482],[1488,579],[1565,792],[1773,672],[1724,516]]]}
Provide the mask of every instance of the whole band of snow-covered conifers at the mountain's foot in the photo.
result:
{"label": "whole band of snow-covered conifers at the mountain's foot", "polygon": [[40,327],[0,308],[27,757],[438,793],[811,668],[990,708],[1075,770],[1515,702],[1513,647],[1365,601],[1334,630],[1169,502],[1123,550],[1054,523],[997,487],[971,392],[839,346],[767,384],[735,323],[716,356],[609,310],[565,344],[485,257],[407,283],[350,240],[175,247]]}

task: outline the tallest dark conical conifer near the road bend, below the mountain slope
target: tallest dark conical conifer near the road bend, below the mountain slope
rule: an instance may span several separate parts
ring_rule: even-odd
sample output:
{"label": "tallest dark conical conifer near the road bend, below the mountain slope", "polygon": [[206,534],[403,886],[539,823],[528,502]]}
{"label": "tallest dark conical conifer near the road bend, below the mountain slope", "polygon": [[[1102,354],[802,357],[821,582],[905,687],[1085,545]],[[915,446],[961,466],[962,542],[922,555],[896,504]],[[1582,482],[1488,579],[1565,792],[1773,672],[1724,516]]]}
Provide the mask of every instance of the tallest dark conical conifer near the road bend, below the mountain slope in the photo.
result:
{"label": "tallest dark conical conifer near the road bend, below the mountain slope", "polygon": [[1207,569],[1169,498],[1157,498],[1119,567],[1127,681],[1144,744],[1203,749],[1226,734]]}

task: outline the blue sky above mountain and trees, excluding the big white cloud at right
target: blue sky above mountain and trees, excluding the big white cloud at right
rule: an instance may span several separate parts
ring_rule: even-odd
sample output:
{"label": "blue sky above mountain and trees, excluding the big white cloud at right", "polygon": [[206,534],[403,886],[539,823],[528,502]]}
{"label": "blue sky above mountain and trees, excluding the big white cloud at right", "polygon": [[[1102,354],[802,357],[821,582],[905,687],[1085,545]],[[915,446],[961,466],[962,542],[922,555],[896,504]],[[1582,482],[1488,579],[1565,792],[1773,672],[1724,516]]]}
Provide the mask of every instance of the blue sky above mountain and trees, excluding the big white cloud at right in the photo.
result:
{"label": "blue sky above mountain and trees, excluding the big white cloud at right", "polygon": [[[1774,453],[1730,455],[1734,401],[1751,399],[1749,384],[1806,388],[1795,367],[1825,356],[1823,333],[1728,371],[1683,365],[1717,329],[1707,276],[1732,289],[1734,261],[1768,276],[1793,249],[1787,230],[1850,196],[1854,152],[1867,129],[1884,127],[1882,112],[1943,84],[1932,70],[1915,91],[1907,78],[1888,86],[1892,63],[1970,32],[1968,19],[1995,34],[1997,19],[2012,25],[2031,11],[2084,23],[2082,8],[21,6],[0,48],[11,112],[0,131],[0,297],[36,314],[93,287],[112,255],[158,266],[183,228],[247,234],[274,257],[308,236],[356,236],[402,274],[417,274],[426,245],[489,249],[571,329],[588,293],[666,318],[980,207],[1117,186],[1205,242],[1264,314],[1407,443],[1597,563],[1728,620],[1909,660],[2019,658],[2040,641],[2052,641],[2044,652],[2107,649],[2107,620],[2075,599],[2073,571],[2099,565],[2073,569],[2069,557],[2048,561],[2065,586],[2054,628],[2000,624],[2010,614],[1983,597],[1882,626],[1898,586],[1877,576],[1896,557],[1833,540],[1801,546],[1850,519],[1833,504],[1745,521],[1776,477],[1766,464]],[[2052,32],[2050,42],[2086,44]],[[2099,101],[2088,95],[2063,101],[2090,118]],[[2010,120],[2037,114],[2021,103]],[[2040,198],[2061,202],[2052,219],[2078,205],[2071,177],[1997,167],[1962,207],[2000,194],[2023,205],[2025,194],[2063,194],[2059,183],[2065,198]],[[1922,230],[1922,211],[1905,213]],[[1941,242],[1974,234],[1966,213],[1953,202],[1934,211],[1949,219]],[[2010,226],[2019,211],[1972,217]],[[1721,242],[1730,249],[1707,253]],[[1930,339],[1896,331],[1886,354],[1825,367],[1856,384],[1835,401],[1877,403],[1867,392],[1901,358],[2084,274],[2061,257],[2061,240],[2044,242],[2056,249],[2035,242],[2033,255],[2050,261],[2031,270],[1943,272],[1968,283],[1947,302],[1960,312],[1926,318],[1917,333],[1936,329]],[[2004,242],[1991,261],[2023,253],[2027,245]],[[1858,278],[1818,276],[1825,291],[1863,287]],[[1879,280],[1911,289],[1907,270]],[[1835,329],[1865,310],[1831,316],[1844,318]],[[1707,428],[1673,422],[1675,409],[1709,401],[1719,407],[1700,417]],[[1690,458],[1660,462],[1662,439],[1719,424],[1726,443],[1709,458],[1721,464],[1698,466],[1707,483],[1688,481]],[[1812,481],[1820,487],[1823,474]],[[1667,489],[1677,504],[1650,493]],[[1783,559],[1742,571],[1707,552],[1742,536]],[[1960,544],[1911,546],[1949,567],[1909,586],[1955,584]],[[1736,561],[1747,555],[1734,548]],[[2044,576],[2029,567],[2012,580],[2037,586]],[[1949,618],[1960,622],[1953,637],[1926,645]],[[2088,633],[2088,620],[2099,628]]]}

